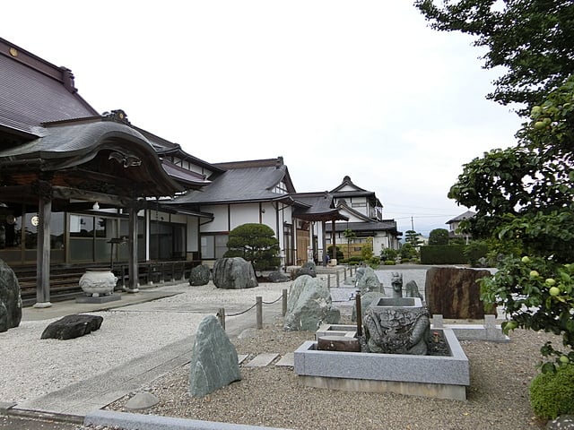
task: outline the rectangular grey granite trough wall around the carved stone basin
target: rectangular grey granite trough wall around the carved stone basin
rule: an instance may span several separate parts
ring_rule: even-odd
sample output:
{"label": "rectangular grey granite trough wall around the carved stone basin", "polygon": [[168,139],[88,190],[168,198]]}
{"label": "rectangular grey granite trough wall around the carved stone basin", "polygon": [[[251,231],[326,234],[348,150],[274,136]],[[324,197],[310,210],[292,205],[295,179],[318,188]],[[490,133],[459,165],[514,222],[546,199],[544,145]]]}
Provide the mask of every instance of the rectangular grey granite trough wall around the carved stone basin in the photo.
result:
{"label": "rectangular grey granite trough wall around the carved stone basin", "polygon": [[[349,328],[352,331],[346,331]],[[356,328],[326,324],[319,331],[354,336]],[[449,356],[324,351],[317,350],[317,341],[309,340],[294,353],[295,374],[309,387],[466,400],[470,367],[465,351],[451,329],[433,331],[447,341]]]}

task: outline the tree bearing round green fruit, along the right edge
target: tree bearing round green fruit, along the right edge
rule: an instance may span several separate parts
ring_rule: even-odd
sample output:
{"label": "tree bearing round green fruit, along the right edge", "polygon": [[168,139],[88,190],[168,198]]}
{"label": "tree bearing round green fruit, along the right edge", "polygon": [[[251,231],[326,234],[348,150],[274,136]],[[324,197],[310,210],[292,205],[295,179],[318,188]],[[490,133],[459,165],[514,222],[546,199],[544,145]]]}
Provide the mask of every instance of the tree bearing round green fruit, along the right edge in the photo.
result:
{"label": "tree bearing round green fruit, along the right edge", "polygon": [[[491,150],[464,167],[449,196],[477,213],[462,228],[499,240],[500,271],[483,280],[483,298],[502,305],[516,327],[562,337],[564,353],[543,371],[574,362],[574,78],[532,108],[531,121],[507,150]],[[523,255],[520,258],[520,255]]]}

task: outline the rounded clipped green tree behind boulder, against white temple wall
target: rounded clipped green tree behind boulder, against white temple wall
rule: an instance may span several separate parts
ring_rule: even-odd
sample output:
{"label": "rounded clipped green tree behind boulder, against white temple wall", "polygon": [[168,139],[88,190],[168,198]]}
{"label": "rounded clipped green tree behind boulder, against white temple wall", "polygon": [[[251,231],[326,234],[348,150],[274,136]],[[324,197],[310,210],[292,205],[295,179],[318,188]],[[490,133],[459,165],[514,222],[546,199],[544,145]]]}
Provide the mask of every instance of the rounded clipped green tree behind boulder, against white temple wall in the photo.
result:
{"label": "rounded clipped green tree behind boulder, against white temple wall", "polygon": [[272,228],[265,224],[243,224],[230,231],[229,251],[224,257],[242,257],[253,264],[256,271],[274,269],[281,263],[279,241]]}

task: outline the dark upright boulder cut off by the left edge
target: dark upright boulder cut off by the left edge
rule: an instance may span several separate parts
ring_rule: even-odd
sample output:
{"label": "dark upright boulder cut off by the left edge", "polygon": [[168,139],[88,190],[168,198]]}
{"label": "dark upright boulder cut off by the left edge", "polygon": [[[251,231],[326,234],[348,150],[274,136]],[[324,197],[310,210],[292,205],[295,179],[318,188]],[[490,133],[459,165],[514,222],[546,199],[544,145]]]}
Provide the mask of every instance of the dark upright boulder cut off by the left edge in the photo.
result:
{"label": "dark upright boulder cut off by the left edge", "polygon": [[18,327],[22,321],[20,284],[12,268],[0,260],[0,332]]}

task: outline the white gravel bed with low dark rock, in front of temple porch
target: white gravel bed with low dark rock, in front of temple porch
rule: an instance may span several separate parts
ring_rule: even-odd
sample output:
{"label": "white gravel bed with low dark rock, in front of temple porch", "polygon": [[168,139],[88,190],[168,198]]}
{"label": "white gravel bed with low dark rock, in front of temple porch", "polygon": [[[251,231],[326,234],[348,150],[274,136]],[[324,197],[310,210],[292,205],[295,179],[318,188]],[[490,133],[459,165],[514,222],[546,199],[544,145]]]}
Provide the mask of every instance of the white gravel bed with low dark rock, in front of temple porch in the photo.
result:
{"label": "white gravel bed with low dark rock, in front of temple porch", "polygon": [[179,294],[90,313],[103,316],[100,330],[74,340],[40,340],[42,331],[58,318],[22,321],[19,327],[0,333],[0,401],[22,403],[103,374],[111,366],[193,336],[204,316],[214,314],[219,307],[232,304],[247,309],[257,296],[273,301],[290,285],[222,290],[210,282],[204,287],[182,284],[158,288]]}

